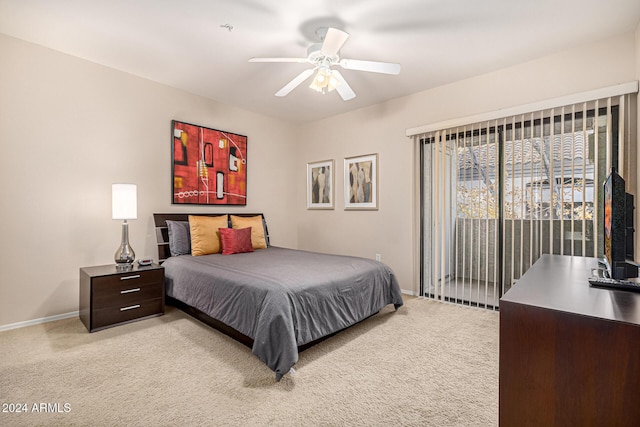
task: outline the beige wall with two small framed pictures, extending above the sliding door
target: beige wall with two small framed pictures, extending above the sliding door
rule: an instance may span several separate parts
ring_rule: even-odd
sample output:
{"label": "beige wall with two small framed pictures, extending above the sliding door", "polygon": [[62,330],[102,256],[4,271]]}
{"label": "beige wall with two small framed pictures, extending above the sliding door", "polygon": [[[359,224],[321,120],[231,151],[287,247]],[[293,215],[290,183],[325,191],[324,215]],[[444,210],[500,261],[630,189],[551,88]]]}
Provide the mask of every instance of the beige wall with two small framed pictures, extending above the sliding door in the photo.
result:
{"label": "beige wall with two small framed pictures, extending above the sliding door", "polygon": [[[368,258],[380,253],[401,287],[417,292],[417,171],[405,130],[629,82],[638,78],[636,53],[631,32],[303,126],[305,144],[297,171],[298,246]],[[379,154],[380,209],[344,211],[343,159],[369,153]],[[305,165],[325,159],[336,160],[336,209],[306,210]]]}

